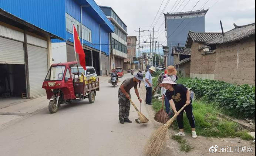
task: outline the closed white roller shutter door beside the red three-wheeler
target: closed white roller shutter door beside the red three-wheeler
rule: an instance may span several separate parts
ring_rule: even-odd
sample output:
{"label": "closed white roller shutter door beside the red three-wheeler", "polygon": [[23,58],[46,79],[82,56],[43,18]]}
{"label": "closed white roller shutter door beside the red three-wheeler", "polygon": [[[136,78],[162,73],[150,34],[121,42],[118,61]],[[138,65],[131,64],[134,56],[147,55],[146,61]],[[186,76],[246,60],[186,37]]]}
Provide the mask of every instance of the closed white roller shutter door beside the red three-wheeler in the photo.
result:
{"label": "closed white roller shutter door beside the red three-wheeler", "polygon": [[45,95],[42,85],[48,71],[47,49],[28,44],[27,50],[30,97]]}

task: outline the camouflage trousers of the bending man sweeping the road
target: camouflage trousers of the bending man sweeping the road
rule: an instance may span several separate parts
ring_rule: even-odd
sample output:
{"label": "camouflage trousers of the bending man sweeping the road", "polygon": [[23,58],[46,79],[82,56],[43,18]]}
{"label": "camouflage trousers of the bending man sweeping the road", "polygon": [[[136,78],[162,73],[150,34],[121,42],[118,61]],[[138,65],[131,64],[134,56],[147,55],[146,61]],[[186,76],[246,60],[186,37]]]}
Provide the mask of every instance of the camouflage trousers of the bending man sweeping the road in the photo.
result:
{"label": "camouflage trousers of the bending man sweeping the road", "polygon": [[[129,93],[131,97],[131,94]],[[129,118],[131,102],[125,97],[125,94],[118,92],[119,121]]]}

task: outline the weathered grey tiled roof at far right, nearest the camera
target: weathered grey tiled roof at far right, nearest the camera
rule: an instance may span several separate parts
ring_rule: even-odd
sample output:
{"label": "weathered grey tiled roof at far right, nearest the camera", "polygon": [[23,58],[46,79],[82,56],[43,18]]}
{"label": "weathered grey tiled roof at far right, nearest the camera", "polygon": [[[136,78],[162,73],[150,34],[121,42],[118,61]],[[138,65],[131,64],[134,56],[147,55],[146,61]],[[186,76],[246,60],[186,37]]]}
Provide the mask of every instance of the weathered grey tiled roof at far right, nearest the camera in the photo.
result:
{"label": "weathered grey tiled roof at far right, nearest the camera", "polygon": [[255,23],[247,24],[245,26],[237,26],[234,23],[235,28],[224,33],[224,36],[219,35],[211,40],[206,41],[206,45],[230,43],[233,41],[239,41],[243,38],[255,35]]}

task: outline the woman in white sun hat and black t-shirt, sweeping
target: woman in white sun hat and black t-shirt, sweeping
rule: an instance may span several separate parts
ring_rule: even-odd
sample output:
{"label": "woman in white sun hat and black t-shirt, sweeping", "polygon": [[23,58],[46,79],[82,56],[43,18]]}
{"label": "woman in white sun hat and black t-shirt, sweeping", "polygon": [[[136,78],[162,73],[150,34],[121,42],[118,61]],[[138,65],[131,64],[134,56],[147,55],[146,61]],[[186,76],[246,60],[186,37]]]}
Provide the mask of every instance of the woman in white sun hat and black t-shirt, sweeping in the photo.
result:
{"label": "woman in white sun hat and black t-shirt, sweeping", "polygon": [[188,104],[177,116],[177,122],[179,126],[179,133],[176,136],[185,136],[184,126],[183,126],[183,113],[186,111],[186,116],[189,120],[189,124],[192,129],[192,138],[196,138],[195,130],[195,118],[193,116],[192,102],[190,98],[190,91],[182,84],[176,84],[171,78],[164,78],[160,87],[166,89],[165,96],[169,100],[172,110],[175,114],[183,107],[183,105]]}

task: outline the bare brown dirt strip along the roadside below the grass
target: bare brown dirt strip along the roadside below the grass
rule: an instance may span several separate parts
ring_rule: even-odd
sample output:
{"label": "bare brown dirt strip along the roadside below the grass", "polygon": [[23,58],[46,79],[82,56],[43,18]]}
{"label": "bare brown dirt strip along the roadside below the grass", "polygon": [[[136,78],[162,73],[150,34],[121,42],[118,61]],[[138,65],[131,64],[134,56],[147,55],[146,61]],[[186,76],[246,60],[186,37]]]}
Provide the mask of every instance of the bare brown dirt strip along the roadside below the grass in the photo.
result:
{"label": "bare brown dirt strip along the roadside below the grass", "polygon": [[[146,94],[145,87],[142,85],[142,87],[139,89],[140,94]],[[152,106],[146,105],[146,109],[148,110],[149,118],[154,120],[155,112],[152,108]],[[158,128],[162,124],[152,121],[154,123],[155,127]],[[169,129],[169,140],[166,143],[166,146],[164,147],[163,152],[160,154],[161,156],[208,156],[208,155],[218,155],[218,156],[255,156],[255,144],[252,145],[250,141],[242,140],[239,138],[210,138],[210,137],[203,137],[198,136],[198,138],[193,139],[191,135],[186,135],[184,139],[187,140],[189,144],[191,144],[194,148],[190,152],[183,152],[180,151],[179,143],[175,140],[171,139],[172,135],[177,133],[176,130]],[[218,146],[217,152],[210,153],[209,148],[211,146]],[[246,147],[252,147],[252,152],[240,152],[240,146]],[[226,149],[226,152],[220,152],[221,150]],[[232,152],[230,152],[230,147]],[[233,152],[233,147],[239,147],[239,152]],[[228,150],[229,149],[229,150]]]}

